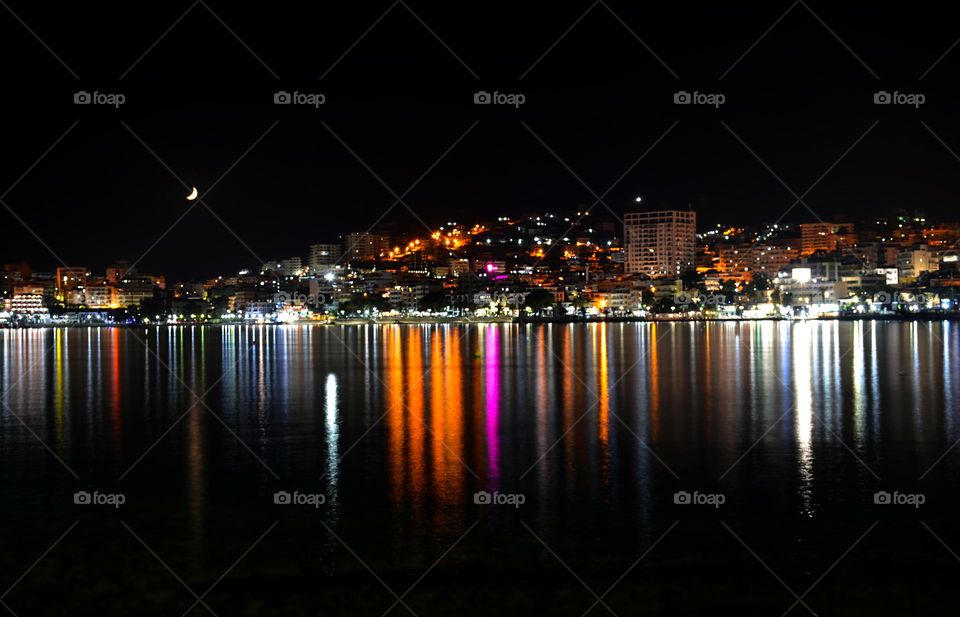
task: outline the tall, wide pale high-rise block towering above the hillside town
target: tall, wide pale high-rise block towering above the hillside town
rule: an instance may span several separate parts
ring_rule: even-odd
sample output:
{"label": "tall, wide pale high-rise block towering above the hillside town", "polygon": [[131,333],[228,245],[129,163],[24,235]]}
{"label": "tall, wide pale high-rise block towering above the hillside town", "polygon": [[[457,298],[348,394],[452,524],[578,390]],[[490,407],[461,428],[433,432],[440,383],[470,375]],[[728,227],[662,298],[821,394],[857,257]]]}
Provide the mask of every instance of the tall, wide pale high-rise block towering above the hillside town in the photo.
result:
{"label": "tall, wide pale high-rise block towering above the hillside town", "polygon": [[696,240],[696,212],[628,212],[623,230],[626,271],[650,277],[677,276],[694,267]]}

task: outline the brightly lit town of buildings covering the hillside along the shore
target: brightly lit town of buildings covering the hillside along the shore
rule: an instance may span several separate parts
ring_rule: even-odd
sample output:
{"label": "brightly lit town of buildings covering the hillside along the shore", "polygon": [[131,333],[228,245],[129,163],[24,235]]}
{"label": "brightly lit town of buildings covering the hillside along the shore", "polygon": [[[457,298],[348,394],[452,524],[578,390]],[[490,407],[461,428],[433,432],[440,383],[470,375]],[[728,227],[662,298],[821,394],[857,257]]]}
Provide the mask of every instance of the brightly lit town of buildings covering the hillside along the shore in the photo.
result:
{"label": "brightly lit town of buildings covering the hillside along the shore", "polygon": [[707,229],[691,210],[540,213],[305,248],[173,283],[136,262],[7,263],[0,325],[909,316],[960,296],[960,224],[920,213]]}

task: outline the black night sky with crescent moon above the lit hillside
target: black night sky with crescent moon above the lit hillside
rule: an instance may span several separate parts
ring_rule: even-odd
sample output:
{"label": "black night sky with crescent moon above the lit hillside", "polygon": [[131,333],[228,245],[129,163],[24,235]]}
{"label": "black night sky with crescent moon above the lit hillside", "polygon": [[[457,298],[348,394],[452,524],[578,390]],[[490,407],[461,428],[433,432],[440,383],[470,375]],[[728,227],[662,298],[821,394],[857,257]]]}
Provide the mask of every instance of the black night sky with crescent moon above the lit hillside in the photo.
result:
{"label": "black night sky with crescent moon above the lit hillside", "polygon": [[[384,16],[389,1],[208,0],[183,16],[189,1],[7,1],[23,23],[0,8],[0,192],[76,123],[3,201],[95,271],[142,257],[144,271],[209,276],[305,255],[369,228],[435,163],[404,200],[430,225],[589,206],[674,123],[606,195],[612,209],[642,194],[690,203],[703,224],[772,222],[795,201],[774,173],[802,195],[836,164],[804,198],[824,219],[956,218],[960,161],[931,134],[960,152],[960,46],[930,70],[960,37],[949,2],[610,1],[584,16],[590,2],[409,0]],[[78,90],[126,102],[75,105]],[[278,90],[326,102],[274,105]],[[478,106],[477,90],[526,102]],[[678,90],[726,102],[675,105]],[[926,101],[878,106],[878,90]],[[215,215],[198,205],[174,225],[188,191],[147,147],[201,193],[219,179]],[[786,218],[812,219],[802,205]],[[6,208],[0,221],[0,259],[58,264]],[[421,228],[403,205],[385,221]]]}

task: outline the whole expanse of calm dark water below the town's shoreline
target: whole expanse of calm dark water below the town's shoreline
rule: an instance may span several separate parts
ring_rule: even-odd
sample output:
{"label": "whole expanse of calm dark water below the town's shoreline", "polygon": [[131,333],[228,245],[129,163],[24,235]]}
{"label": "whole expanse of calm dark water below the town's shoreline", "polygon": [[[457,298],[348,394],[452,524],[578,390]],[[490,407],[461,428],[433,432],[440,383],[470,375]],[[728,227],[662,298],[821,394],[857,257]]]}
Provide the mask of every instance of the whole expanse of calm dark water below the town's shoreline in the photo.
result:
{"label": "whole expanse of calm dark water below the town's shoreline", "polygon": [[955,614],[958,367],[950,322],[0,331],[0,594],[18,615]]}

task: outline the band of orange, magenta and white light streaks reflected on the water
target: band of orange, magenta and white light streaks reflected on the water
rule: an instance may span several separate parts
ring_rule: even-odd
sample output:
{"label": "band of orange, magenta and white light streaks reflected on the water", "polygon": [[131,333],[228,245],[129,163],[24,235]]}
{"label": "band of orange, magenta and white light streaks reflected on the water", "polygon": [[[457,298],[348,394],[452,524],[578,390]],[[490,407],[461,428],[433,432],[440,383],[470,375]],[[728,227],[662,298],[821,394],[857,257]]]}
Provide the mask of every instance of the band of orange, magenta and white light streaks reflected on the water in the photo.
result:
{"label": "band of orange, magenta and white light streaks reflected on the water", "polygon": [[[118,477],[148,452],[132,476],[182,469],[198,536],[221,475],[269,480],[255,457],[322,479],[333,510],[362,485],[455,528],[479,488],[649,518],[677,478],[719,482],[755,444],[723,482],[815,516],[839,470],[922,471],[960,436],[957,338],[874,321],[5,330],[0,387],[72,467]],[[9,413],[0,448],[8,477],[51,464]]]}

